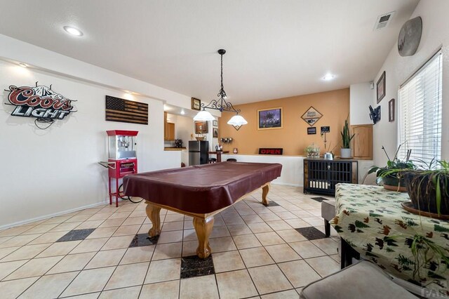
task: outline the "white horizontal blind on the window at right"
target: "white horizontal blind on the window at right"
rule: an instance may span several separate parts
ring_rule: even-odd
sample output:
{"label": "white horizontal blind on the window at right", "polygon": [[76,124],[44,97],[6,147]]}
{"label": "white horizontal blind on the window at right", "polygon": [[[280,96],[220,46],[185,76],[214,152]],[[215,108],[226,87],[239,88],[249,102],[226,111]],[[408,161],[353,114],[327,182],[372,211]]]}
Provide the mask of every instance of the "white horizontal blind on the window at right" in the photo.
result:
{"label": "white horizontal blind on the window at right", "polygon": [[442,72],[440,50],[399,88],[398,157],[412,150],[414,161],[441,159]]}

